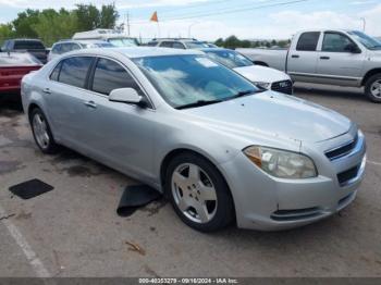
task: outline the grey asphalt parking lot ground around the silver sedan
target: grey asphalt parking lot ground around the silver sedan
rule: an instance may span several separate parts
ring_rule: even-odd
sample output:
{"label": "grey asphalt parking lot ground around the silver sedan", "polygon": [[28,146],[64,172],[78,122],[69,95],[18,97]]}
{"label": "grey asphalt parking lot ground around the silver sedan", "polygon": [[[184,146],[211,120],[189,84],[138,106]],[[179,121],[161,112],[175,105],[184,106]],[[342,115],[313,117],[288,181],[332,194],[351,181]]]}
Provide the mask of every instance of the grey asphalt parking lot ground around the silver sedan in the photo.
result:
{"label": "grey asphalt parking lot ground around the silver sedan", "polygon": [[[120,218],[122,190],[136,182],[70,150],[41,154],[22,112],[1,102],[0,276],[381,276],[381,104],[357,89],[295,91],[358,123],[369,162],[351,207],[278,233],[201,234],[164,200]],[[8,190],[35,177],[54,189],[30,200]]]}

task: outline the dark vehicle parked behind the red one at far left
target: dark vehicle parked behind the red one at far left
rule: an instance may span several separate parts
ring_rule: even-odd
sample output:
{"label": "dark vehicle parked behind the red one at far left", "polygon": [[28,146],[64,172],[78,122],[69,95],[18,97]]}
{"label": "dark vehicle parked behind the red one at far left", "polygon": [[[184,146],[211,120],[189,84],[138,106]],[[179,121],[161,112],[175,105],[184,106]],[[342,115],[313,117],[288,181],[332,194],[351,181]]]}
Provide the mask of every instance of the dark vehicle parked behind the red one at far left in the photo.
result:
{"label": "dark vehicle parked behind the red one at far left", "polygon": [[47,63],[47,49],[39,39],[9,39],[1,47],[3,52],[29,52],[44,64]]}

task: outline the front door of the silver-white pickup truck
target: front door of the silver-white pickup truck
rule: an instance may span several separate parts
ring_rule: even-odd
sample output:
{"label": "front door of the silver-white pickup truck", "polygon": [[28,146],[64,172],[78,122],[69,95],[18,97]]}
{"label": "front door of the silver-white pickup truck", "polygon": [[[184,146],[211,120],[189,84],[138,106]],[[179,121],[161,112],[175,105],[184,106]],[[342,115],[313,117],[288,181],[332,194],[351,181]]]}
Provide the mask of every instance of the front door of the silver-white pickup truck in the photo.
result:
{"label": "front door of the silver-white pickup truck", "polygon": [[357,45],[345,34],[325,32],[318,57],[319,76],[327,84],[357,86],[361,80],[361,71],[365,63],[365,52],[358,48],[351,51],[349,46]]}

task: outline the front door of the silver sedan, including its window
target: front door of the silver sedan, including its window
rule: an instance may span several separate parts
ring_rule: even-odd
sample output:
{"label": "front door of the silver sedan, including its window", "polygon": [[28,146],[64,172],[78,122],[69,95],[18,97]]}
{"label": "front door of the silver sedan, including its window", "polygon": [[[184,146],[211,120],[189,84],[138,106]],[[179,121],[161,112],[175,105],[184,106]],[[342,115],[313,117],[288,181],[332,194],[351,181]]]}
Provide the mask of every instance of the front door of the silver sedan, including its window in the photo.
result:
{"label": "front door of the silver sedan, including its window", "polygon": [[89,89],[95,111],[88,112],[88,146],[102,161],[124,172],[152,177],[153,126],[150,108],[109,101],[113,89],[131,87],[145,96],[119,62],[99,58]]}

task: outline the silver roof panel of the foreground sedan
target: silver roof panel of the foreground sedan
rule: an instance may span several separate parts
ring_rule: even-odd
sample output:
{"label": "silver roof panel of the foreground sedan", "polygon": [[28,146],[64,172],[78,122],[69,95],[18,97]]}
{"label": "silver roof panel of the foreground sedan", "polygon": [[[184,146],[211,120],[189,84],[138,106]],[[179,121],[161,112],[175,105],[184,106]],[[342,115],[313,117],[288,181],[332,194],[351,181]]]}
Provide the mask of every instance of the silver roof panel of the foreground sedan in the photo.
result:
{"label": "silver roof panel of the foreground sedan", "polygon": [[130,59],[147,58],[147,57],[164,57],[164,55],[204,54],[201,51],[197,51],[197,50],[188,50],[188,49],[183,50],[183,49],[156,48],[156,47],[82,49],[70,53],[71,54],[91,53],[94,55],[108,55],[111,53],[119,53]]}

